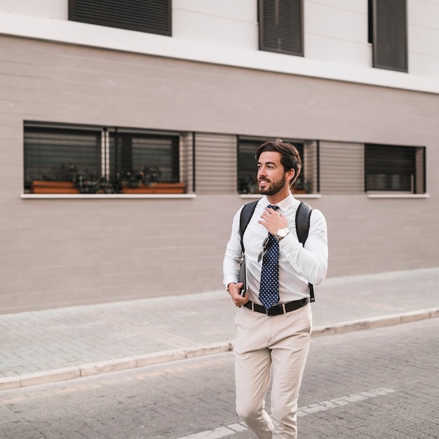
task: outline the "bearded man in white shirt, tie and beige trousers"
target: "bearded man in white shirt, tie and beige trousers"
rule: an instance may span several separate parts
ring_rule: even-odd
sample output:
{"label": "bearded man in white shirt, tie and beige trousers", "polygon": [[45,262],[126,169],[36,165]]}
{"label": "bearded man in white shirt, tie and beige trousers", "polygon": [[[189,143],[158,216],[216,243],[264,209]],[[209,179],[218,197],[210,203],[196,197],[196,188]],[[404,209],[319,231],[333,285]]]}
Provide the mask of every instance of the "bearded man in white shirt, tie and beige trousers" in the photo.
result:
{"label": "bearded man in white shirt, tie and beige trousers", "polygon": [[[248,291],[238,283],[241,259],[239,219],[234,216],[224,256],[224,285],[239,306],[236,313],[236,410],[259,439],[297,438],[297,398],[309,350],[309,284],[327,271],[325,217],[314,209],[306,243],[297,239],[299,201],[290,186],[302,168],[297,149],[278,139],[257,149],[257,203],[243,236]],[[268,237],[268,239],[267,239]],[[264,398],[271,387],[271,417]]]}

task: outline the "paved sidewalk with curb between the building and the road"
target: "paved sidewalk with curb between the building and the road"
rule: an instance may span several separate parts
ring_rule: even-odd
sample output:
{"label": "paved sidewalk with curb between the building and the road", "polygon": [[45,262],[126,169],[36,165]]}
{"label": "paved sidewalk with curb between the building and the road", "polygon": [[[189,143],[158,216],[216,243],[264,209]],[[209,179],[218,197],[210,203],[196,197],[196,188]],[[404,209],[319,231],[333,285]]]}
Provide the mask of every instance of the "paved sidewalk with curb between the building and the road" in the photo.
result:
{"label": "paved sidewalk with curb between the building and the road", "polygon": [[[313,337],[439,317],[439,268],[328,278]],[[224,290],[0,315],[0,391],[233,349]]]}

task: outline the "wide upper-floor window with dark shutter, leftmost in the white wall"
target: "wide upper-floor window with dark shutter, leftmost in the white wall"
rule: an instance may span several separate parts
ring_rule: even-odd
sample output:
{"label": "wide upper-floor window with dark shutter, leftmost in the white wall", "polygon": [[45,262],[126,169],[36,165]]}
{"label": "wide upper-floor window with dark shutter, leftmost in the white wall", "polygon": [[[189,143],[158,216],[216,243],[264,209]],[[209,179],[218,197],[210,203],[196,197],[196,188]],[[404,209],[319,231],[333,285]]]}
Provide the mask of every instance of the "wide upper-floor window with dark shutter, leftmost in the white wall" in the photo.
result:
{"label": "wide upper-floor window with dark shutter, leftmost in the white wall", "polygon": [[69,20],[171,34],[171,0],[69,0]]}

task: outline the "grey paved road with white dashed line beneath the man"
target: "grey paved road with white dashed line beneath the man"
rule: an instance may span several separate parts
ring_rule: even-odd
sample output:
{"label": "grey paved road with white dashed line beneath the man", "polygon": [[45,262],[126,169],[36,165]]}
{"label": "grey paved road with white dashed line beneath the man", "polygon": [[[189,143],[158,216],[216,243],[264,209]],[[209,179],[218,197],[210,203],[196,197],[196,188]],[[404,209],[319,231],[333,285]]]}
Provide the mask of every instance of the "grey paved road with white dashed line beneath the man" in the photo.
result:
{"label": "grey paved road with white dashed line beneath the man", "polygon": [[[299,438],[439,438],[438,353],[439,318],[312,339]],[[224,353],[3,391],[0,438],[252,438],[233,380]]]}

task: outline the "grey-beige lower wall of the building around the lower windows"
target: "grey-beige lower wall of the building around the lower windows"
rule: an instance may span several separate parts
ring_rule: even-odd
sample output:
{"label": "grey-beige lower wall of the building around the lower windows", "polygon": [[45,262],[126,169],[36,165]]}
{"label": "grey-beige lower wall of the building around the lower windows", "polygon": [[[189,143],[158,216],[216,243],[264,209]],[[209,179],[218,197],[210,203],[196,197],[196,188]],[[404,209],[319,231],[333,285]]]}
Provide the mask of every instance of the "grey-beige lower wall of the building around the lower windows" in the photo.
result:
{"label": "grey-beige lower wall of the building around the lower windows", "polygon": [[220,290],[246,202],[205,144],[194,199],[22,199],[23,121],[426,146],[430,198],[308,200],[345,276],[438,265],[438,120],[428,93],[0,36],[0,312]]}

